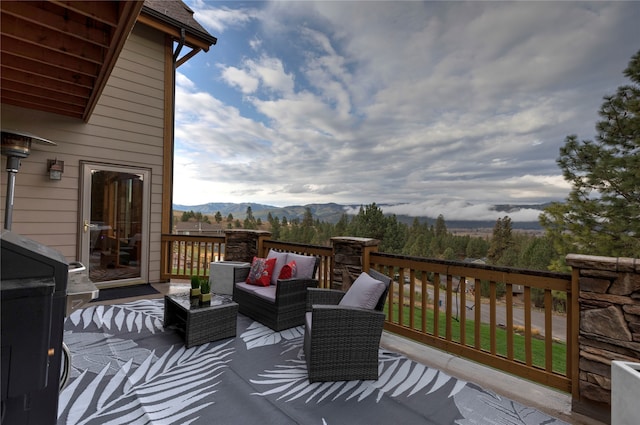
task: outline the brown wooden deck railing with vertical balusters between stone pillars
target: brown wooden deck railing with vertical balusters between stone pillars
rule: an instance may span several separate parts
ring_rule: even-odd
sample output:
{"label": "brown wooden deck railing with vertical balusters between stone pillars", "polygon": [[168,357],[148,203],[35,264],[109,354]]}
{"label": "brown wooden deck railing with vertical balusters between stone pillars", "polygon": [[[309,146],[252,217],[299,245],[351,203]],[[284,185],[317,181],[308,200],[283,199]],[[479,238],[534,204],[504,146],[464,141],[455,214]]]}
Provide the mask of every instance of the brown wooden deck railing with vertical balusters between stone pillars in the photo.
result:
{"label": "brown wooden deck railing with vertical balusters between stone pillars", "polygon": [[[224,243],[224,236],[163,235],[162,278],[208,276],[209,263],[224,259]],[[331,287],[331,247],[265,240],[259,254],[269,249],[320,257],[320,286]],[[386,330],[565,392],[577,382],[577,279],[570,274],[378,252],[369,266],[394,280]],[[533,307],[534,290],[543,292],[541,308]],[[552,291],[566,296],[564,314],[554,313]]]}

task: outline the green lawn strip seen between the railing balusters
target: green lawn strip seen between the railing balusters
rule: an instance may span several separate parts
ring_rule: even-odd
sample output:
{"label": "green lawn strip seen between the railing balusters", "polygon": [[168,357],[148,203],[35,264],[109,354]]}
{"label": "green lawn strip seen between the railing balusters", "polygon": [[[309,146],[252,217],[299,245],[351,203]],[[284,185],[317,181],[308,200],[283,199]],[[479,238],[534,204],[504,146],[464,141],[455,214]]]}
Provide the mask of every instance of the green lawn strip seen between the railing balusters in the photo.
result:
{"label": "green lawn strip seen between the railing balusters", "polygon": [[[388,308],[385,307],[385,313]],[[427,309],[427,333],[433,335],[433,310]],[[398,305],[394,304],[392,321],[397,323],[398,320]],[[438,318],[438,332],[439,336],[444,337],[446,335],[446,320],[445,313],[440,312]],[[409,307],[403,309],[403,321],[404,326],[409,326]],[[414,310],[414,328],[421,330],[422,323],[422,309],[416,308]],[[465,323],[465,342],[468,346],[475,345],[475,322],[467,318]],[[507,331],[505,329],[497,328],[496,332],[496,352],[502,356],[507,355]],[[490,351],[490,335],[491,327],[488,324],[480,324],[480,346],[483,350]],[[460,342],[460,323],[452,318],[451,320],[451,339],[455,342]],[[524,349],[524,336],[514,333],[513,335],[513,356],[515,359],[522,362],[525,361],[525,349]],[[544,368],[545,364],[545,342],[542,339],[533,338],[531,341],[531,353],[533,364]],[[554,372],[565,375],[566,374],[566,353],[567,346],[565,343],[554,342],[552,347],[552,369]]]}

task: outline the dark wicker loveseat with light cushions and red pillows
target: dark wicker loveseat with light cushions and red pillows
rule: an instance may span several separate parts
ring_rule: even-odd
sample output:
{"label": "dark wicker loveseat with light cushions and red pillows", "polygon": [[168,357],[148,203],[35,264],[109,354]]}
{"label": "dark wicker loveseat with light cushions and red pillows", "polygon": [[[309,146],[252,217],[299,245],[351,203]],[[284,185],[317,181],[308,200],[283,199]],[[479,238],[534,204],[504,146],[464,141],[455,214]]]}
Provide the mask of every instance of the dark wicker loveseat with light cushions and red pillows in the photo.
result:
{"label": "dark wicker loveseat with light cushions and red pillows", "polygon": [[[316,288],[315,279],[320,258],[271,250],[267,258],[276,258],[271,284],[256,286],[247,282],[236,282],[233,300],[238,303],[238,312],[281,331],[304,324],[307,288]],[[295,261],[296,277],[278,279],[280,269]]]}

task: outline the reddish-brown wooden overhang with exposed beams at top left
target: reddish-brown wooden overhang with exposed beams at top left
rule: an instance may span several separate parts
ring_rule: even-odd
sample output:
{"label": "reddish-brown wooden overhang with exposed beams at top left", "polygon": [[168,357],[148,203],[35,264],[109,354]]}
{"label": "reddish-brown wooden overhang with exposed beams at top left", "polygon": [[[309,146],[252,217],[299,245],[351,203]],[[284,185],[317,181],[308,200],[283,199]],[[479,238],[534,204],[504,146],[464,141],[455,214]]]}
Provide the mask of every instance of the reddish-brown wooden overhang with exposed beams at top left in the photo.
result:
{"label": "reddish-brown wooden overhang with exposed beams at top left", "polygon": [[2,103],[87,121],[142,6],[0,2]]}

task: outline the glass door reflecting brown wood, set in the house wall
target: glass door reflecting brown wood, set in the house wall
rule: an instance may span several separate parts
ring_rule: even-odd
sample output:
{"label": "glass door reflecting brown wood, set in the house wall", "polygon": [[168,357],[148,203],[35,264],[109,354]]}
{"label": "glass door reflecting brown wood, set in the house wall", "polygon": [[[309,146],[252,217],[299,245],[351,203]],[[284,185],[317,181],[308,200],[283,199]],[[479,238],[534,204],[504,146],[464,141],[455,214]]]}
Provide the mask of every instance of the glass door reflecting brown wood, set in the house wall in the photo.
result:
{"label": "glass door reflecting brown wood, set in the house wall", "polygon": [[98,287],[147,282],[149,171],[86,162],[82,170],[81,261],[89,279]]}

